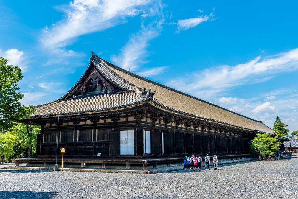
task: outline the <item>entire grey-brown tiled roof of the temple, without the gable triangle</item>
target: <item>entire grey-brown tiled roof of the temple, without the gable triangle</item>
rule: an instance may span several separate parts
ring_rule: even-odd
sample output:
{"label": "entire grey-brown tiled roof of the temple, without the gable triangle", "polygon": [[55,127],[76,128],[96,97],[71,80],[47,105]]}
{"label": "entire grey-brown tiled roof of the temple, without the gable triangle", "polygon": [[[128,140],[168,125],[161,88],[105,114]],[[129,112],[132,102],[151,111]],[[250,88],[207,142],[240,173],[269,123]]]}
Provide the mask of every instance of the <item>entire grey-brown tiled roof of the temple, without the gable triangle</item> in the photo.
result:
{"label": "entire grey-brown tiled roof of the temple, without the gable triangle", "polygon": [[[65,99],[66,96],[72,95],[74,89],[79,86],[84,77],[88,75],[87,71],[92,66],[95,66],[108,81],[124,90],[124,92],[112,94],[111,96],[103,94],[94,97]],[[37,110],[32,116],[73,114],[125,107],[147,100],[140,96],[140,92],[143,88],[153,91],[156,90],[152,101],[171,111],[249,130],[259,130],[270,134],[274,132],[261,121],[248,118],[173,88],[140,77],[94,54],[79,81],[60,99],[37,106]]]}

